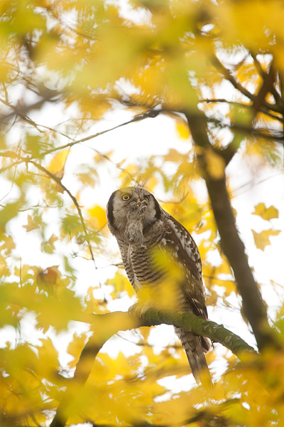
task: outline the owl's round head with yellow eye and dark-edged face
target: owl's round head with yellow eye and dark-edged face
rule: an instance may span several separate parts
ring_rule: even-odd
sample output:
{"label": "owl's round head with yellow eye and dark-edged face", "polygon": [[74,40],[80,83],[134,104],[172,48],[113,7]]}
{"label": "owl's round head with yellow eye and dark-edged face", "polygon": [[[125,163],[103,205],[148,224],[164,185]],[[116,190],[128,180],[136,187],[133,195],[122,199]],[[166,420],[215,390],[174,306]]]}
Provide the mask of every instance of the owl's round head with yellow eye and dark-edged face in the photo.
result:
{"label": "owl's round head with yellow eye and dark-edged face", "polygon": [[140,186],[116,190],[107,204],[107,222],[112,234],[124,233],[131,212],[135,213],[133,221],[139,219],[142,227],[146,228],[160,218],[162,209],[153,194]]}

